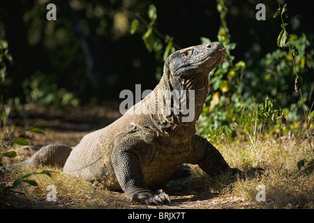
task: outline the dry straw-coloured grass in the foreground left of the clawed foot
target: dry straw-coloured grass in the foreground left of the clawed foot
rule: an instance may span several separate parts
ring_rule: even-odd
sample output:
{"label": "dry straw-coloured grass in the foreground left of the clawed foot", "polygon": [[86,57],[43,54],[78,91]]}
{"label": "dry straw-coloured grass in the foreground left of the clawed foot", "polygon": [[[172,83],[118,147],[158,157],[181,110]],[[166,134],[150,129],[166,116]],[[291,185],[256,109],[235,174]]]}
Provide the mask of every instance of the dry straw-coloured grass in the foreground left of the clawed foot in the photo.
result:
{"label": "dry straw-coloured grass in the foreground left of the clawed foot", "polygon": [[[128,203],[119,192],[108,192],[104,188],[96,187],[87,180],[77,179],[61,173],[55,167],[39,169],[25,169],[10,178],[21,178],[25,174],[40,171],[52,171],[51,177],[45,174],[34,174],[28,179],[35,180],[37,187],[22,183],[10,192],[2,202],[5,208],[128,208]],[[11,180],[12,181],[12,180]],[[54,185],[57,192],[57,201],[47,202],[48,185]],[[21,195],[20,193],[24,195]],[[3,199],[3,198],[1,198]],[[1,202],[0,202],[1,203]]]}

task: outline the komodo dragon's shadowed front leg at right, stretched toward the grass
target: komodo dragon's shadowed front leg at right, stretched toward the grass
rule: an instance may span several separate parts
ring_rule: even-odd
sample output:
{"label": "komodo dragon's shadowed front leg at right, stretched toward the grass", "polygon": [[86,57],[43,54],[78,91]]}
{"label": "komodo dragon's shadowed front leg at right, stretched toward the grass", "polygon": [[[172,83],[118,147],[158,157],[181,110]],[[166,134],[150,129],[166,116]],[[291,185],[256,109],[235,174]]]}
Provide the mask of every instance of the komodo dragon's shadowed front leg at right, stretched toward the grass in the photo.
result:
{"label": "komodo dragon's shadowed front leg at right, stretched toward the grass", "polygon": [[209,176],[218,176],[220,174],[227,174],[228,172],[231,174],[241,173],[237,168],[230,168],[223,156],[207,139],[203,139],[195,134],[194,143],[197,152],[202,152],[196,163]]}

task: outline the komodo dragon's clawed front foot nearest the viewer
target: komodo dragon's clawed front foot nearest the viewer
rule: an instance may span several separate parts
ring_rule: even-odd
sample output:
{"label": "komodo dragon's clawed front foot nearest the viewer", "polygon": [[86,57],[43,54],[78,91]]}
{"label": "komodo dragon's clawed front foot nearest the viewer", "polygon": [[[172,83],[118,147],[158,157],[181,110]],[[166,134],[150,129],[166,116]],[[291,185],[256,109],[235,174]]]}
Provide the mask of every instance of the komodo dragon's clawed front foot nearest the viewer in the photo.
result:
{"label": "komodo dragon's clawed front foot nearest the viewer", "polygon": [[132,198],[130,199],[130,204],[135,203],[160,206],[167,203],[170,204],[170,197],[161,189],[157,190],[156,194],[140,192],[133,194]]}

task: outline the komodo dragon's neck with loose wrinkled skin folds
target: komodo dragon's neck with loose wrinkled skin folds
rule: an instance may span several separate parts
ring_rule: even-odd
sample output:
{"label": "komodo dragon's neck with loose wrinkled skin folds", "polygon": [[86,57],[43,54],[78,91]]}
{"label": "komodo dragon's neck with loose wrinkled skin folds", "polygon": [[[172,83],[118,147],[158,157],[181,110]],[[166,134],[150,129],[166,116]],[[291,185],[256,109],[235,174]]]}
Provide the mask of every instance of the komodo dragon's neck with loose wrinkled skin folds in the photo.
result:
{"label": "komodo dragon's neck with loose wrinkled skin folds", "polygon": [[192,79],[170,76],[165,69],[160,83],[154,91],[156,112],[153,119],[162,132],[174,129],[191,128],[202,113],[204,100],[207,97],[207,75],[194,75]]}

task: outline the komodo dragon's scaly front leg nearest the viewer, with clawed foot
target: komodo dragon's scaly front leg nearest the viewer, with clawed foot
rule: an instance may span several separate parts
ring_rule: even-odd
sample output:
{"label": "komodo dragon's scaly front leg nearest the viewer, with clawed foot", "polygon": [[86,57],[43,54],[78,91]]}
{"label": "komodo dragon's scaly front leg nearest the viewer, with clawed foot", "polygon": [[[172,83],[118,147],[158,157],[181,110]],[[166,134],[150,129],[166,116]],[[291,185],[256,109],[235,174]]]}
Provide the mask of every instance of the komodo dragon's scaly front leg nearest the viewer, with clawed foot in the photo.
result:
{"label": "komodo dragon's scaly front leg nearest the viewer, with clawed foot", "polygon": [[[130,144],[130,141],[122,141],[112,151],[112,167],[119,185],[126,193],[126,198],[130,200],[131,204],[162,205],[163,203],[170,203],[170,197],[165,192],[159,190],[158,194],[154,194],[144,182],[142,159],[138,155],[138,151],[143,148],[142,144],[143,141],[133,145]],[[128,148],[125,145],[128,145]]]}

